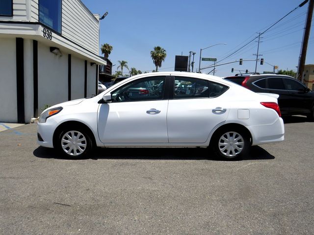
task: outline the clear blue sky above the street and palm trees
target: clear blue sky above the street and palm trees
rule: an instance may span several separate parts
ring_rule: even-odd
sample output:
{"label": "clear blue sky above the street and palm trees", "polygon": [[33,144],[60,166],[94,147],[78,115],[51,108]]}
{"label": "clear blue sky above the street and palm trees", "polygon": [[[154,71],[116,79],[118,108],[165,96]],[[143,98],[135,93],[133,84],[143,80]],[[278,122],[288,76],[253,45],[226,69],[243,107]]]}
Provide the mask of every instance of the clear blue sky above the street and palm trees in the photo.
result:
{"label": "clear blue sky above the street and palm trees", "polygon": [[[167,57],[158,71],[174,71],[175,55],[195,51],[195,69],[199,65],[200,48],[217,45],[202,51],[202,57],[217,60],[243,46],[298,6],[303,0],[82,0],[93,13],[108,15],[100,22],[100,44],[113,47],[109,59],[128,62],[129,68],[152,71],[155,65],[150,51],[163,47]],[[308,4],[298,8],[283,21],[262,35],[259,54],[265,62],[282,70],[296,70],[300,55],[303,28]],[[314,64],[314,23],[312,22],[306,64]],[[228,63],[239,58],[256,59],[257,43],[252,42],[238,53],[221,61]],[[210,66],[201,62],[201,68]],[[229,76],[236,70],[255,71],[255,62],[243,62],[216,67],[215,75]],[[272,71],[272,66],[258,64],[257,71]],[[208,73],[212,69],[202,70]],[[124,70],[125,72],[125,70]],[[212,73],[210,73],[212,74]]]}

